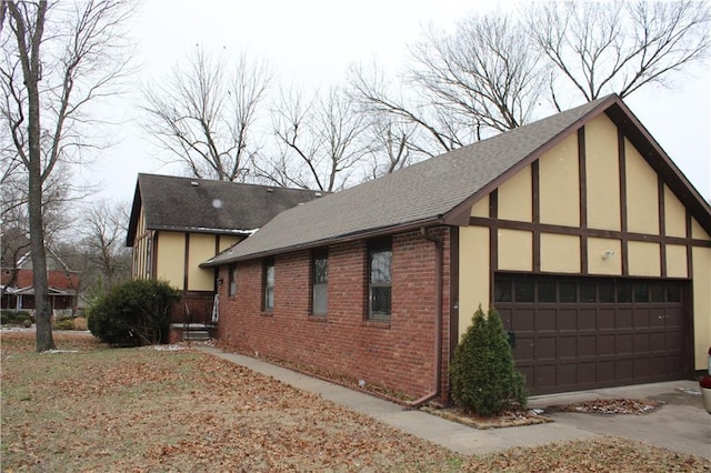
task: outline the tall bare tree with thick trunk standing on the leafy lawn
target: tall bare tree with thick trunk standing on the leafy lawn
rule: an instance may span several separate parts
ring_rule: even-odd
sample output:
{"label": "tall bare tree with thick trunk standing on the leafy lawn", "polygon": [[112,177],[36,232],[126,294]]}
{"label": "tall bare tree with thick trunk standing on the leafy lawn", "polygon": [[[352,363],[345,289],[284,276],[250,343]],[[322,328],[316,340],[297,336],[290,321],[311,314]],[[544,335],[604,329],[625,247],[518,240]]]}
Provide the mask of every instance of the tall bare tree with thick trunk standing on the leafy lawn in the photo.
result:
{"label": "tall bare tree with thick trunk standing on the leafy lawn", "polygon": [[[36,295],[37,350],[54,348],[48,303],[43,203],[62,163],[91,143],[88,105],[111,91],[128,62],[121,27],[131,2],[3,0],[0,37],[2,119],[27,172],[28,220]],[[52,179],[56,179],[54,181]]]}

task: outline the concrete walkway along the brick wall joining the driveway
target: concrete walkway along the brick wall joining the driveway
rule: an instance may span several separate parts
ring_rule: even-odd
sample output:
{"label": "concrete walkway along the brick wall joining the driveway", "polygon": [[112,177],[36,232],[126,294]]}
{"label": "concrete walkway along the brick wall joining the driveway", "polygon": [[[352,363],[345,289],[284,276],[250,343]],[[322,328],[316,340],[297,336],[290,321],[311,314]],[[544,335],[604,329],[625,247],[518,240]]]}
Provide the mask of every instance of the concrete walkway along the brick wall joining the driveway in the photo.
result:
{"label": "concrete walkway along the brick wall joining the driveway", "polygon": [[531,407],[600,397],[659,399],[667,402],[662,409],[645,415],[550,413],[545,415],[553,422],[547,424],[478,430],[425,412],[408,410],[402,405],[262,360],[226,353],[213,346],[196,348],[300,390],[320,394],[336,404],[464,455],[499,452],[512,446],[533,446],[598,435],[614,435],[711,460],[711,415],[703,410],[699,385],[692,381],[537,396],[529,401]]}

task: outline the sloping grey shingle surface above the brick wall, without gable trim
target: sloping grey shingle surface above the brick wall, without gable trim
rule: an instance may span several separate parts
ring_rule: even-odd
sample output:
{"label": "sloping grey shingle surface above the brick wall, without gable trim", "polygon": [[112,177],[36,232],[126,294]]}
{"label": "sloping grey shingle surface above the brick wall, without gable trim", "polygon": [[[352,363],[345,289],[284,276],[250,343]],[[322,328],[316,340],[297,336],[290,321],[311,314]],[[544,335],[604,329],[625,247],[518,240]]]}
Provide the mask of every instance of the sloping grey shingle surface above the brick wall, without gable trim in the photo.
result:
{"label": "sloping grey shingle surface above the brick wall, without gable trim", "polygon": [[585,103],[284,211],[212,266],[405,224],[433,223],[617,95]]}

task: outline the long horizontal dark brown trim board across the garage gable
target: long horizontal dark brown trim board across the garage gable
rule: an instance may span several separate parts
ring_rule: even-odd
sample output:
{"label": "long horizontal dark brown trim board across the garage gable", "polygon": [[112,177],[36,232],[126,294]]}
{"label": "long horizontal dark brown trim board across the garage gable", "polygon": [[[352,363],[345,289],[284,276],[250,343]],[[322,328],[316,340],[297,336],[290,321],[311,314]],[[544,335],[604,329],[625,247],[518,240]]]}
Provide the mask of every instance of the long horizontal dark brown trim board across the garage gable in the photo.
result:
{"label": "long horizontal dark brown trim board across the garage gable", "polygon": [[473,227],[488,227],[488,228],[497,228],[505,229],[505,230],[524,230],[532,232],[534,230],[540,231],[541,233],[557,233],[563,235],[574,235],[581,238],[604,238],[604,239],[613,239],[613,240],[622,240],[625,238],[629,241],[645,241],[650,243],[662,243],[665,242],[668,244],[680,244],[680,245],[693,245],[693,246],[702,246],[702,248],[711,248],[711,241],[708,240],[699,240],[699,239],[685,239],[680,236],[662,236],[661,235],[648,235],[643,233],[627,233],[623,234],[618,230],[598,230],[598,229],[579,229],[575,227],[563,227],[555,225],[551,223],[531,223],[531,222],[519,222],[514,220],[494,220],[487,219],[482,217],[472,217],[469,219],[469,224]]}

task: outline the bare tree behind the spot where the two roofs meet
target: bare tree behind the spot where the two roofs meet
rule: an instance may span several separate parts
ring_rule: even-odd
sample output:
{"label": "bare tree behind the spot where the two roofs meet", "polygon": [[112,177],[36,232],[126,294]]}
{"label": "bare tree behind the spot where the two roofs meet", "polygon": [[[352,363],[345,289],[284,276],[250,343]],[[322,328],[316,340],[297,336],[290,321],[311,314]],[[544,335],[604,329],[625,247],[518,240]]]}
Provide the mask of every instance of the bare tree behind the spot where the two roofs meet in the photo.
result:
{"label": "bare tree behind the spot where the two roofs meet", "polygon": [[274,110],[277,159],[259,170],[262,180],[332,192],[348,185],[370,145],[362,140],[368,122],[339,88],[304,99],[293,90],[281,94]]}

